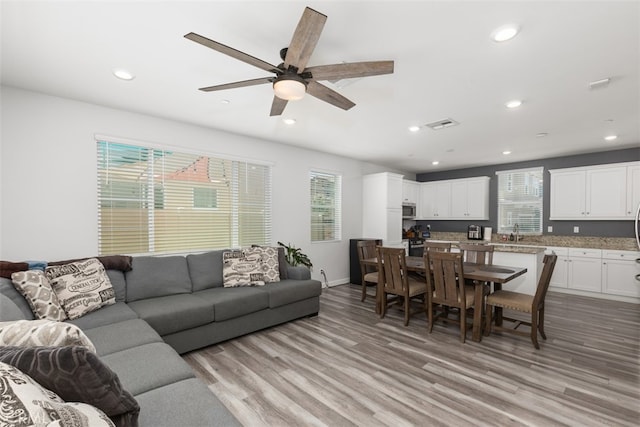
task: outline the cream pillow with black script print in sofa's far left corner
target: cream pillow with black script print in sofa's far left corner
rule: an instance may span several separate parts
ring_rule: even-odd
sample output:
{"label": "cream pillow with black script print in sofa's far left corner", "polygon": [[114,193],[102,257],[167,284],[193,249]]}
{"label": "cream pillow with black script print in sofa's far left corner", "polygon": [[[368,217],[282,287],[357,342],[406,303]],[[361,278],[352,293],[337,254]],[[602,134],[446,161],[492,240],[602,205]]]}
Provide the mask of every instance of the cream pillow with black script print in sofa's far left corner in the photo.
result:
{"label": "cream pillow with black script print in sofa's far left corner", "polygon": [[116,303],[109,276],[96,258],[49,266],[44,272],[69,319]]}

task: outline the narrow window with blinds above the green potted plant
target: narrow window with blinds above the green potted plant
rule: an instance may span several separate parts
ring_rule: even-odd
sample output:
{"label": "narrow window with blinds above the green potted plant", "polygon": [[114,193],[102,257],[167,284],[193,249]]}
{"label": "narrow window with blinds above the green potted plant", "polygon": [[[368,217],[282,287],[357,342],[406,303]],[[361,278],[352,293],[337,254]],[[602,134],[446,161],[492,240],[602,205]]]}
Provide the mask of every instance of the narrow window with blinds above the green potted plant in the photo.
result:
{"label": "narrow window with blinds above the green potted plant", "polygon": [[330,242],[342,238],[342,177],[311,171],[311,241]]}

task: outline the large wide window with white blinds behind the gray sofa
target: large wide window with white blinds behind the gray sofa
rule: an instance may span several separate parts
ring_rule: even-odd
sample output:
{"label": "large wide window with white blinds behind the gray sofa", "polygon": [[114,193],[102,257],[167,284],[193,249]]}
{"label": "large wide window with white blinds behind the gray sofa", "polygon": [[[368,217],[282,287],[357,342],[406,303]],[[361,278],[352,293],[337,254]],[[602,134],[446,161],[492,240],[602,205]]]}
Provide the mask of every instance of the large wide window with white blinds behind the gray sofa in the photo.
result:
{"label": "large wide window with white blinds behind the gray sofa", "polygon": [[100,255],[271,242],[271,168],[98,141]]}

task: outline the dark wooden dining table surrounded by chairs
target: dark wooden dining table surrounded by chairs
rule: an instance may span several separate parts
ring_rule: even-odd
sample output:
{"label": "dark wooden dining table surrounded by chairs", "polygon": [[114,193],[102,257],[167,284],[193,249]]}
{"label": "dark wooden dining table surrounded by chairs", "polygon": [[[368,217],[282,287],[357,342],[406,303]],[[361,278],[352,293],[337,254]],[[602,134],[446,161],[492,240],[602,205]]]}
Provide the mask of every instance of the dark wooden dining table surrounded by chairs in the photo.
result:
{"label": "dark wooden dining table surrounded by chairs", "polygon": [[[408,271],[418,272],[426,274],[426,268],[423,257],[407,256],[405,262]],[[363,263],[367,265],[378,265],[377,258],[364,259]],[[482,307],[483,303],[483,287],[485,283],[493,283],[493,290],[498,291],[502,289],[502,285],[507,283],[516,277],[522,276],[527,272],[525,267],[512,267],[507,265],[495,265],[495,264],[475,264],[471,262],[463,263],[464,279],[472,281],[474,284],[474,305],[475,307]],[[425,279],[426,283],[426,279]],[[382,304],[382,290],[381,284],[378,283],[378,289],[376,292],[376,311],[380,310]],[[500,310],[501,311],[501,310]],[[496,313],[496,324],[500,324],[502,320],[501,312]],[[482,340],[482,310],[473,311],[473,341],[479,342]]]}

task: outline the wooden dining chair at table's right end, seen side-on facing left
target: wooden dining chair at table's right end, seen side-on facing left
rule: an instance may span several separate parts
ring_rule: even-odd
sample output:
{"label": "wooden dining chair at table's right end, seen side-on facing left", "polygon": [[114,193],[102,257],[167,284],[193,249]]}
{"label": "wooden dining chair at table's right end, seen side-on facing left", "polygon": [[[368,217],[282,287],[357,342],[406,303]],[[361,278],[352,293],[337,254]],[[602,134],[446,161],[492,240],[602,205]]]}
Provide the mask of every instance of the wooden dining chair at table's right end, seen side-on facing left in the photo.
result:
{"label": "wooden dining chair at table's right end, seen side-on facing left", "polygon": [[[518,335],[530,336],[531,342],[536,349],[540,348],[538,344],[538,332],[542,339],[547,339],[544,333],[544,300],[547,296],[547,290],[549,289],[549,282],[551,281],[551,275],[553,269],[556,266],[558,256],[555,254],[544,256],[544,267],[540,280],[538,280],[538,286],[536,288],[535,295],[522,294],[512,291],[496,291],[487,297],[487,310],[486,310],[486,332],[485,335],[489,335],[492,331],[503,331],[515,333]],[[493,307],[507,308],[524,313],[531,314],[531,320],[519,320],[510,317],[502,316],[503,321],[509,321],[514,323],[513,327],[498,326],[492,324],[492,309]],[[529,332],[518,331],[517,328],[520,325],[526,325],[531,328]]]}

